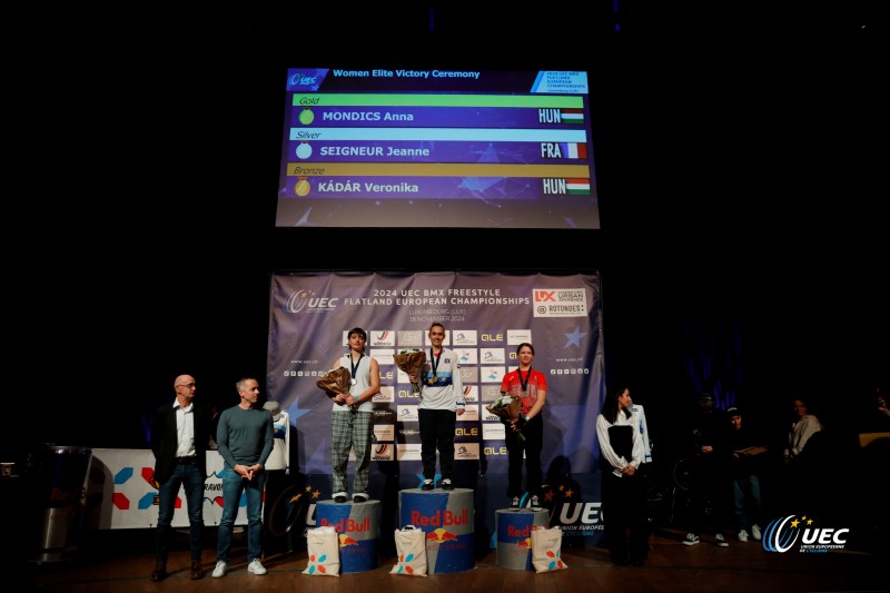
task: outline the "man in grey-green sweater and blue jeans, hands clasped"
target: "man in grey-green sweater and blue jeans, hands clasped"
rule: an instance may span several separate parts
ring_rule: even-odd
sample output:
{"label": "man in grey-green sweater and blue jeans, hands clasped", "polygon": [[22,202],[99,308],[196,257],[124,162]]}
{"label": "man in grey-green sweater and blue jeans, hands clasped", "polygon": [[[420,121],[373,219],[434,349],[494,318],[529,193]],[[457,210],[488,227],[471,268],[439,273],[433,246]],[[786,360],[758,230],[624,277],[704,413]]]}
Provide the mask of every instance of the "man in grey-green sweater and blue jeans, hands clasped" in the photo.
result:
{"label": "man in grey-green sweater and blue jeans, hands clasped", "polygon": [[222,457],[222,516],[217,531],[216,567],[211,576],[219,579],[229,570],[231,532],[241,494],[247,498],[247,572],[266,574],[263,553],[264,466],[273,449],[271,414],[257,407],[259,383],[245,377],[235,384],[240,402],[222,411],[216,433],[217,451]]}

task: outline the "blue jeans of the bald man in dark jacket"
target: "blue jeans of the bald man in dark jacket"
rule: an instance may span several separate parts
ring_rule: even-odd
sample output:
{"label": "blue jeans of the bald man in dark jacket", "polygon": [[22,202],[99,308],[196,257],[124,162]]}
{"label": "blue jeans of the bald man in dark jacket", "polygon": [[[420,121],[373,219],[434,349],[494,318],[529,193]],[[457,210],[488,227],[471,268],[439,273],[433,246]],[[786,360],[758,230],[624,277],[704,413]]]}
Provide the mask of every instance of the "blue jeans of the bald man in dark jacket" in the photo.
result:
{"label": "blue jeans of the bald man in dark jacket", "polygon": [[170,542],[170,524],[174,521],[179,487],[186,491],[188,508],[189,547],[191,560],[201,560],[201,533],[204,532],[204,476],[195,464],[177,465],[170,478],[158,487],[158,530],[155,535],[155,557],[167,562]]}

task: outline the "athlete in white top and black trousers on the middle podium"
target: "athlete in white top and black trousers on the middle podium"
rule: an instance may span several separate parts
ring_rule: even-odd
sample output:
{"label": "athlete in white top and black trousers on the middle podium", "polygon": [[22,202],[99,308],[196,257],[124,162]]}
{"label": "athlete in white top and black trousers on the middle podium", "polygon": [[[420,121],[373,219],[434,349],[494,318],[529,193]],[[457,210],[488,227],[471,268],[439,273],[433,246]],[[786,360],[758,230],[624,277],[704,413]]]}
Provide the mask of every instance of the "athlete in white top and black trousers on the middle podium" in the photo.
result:
{"label": "athlete in white top and black trousers on the middle podium", "polygon": [[421,428],[421,462],[424,482],[421,490],[433,490],[436,477],[436,451],[442,471],[442,490],[454,490],[454,431],[457,416],[464,414],[466,401],[457,355],[442,346],[445,326],[429,326],[429,356],[422,374],[412,373],[412,383],[421,384],[417,418]]}

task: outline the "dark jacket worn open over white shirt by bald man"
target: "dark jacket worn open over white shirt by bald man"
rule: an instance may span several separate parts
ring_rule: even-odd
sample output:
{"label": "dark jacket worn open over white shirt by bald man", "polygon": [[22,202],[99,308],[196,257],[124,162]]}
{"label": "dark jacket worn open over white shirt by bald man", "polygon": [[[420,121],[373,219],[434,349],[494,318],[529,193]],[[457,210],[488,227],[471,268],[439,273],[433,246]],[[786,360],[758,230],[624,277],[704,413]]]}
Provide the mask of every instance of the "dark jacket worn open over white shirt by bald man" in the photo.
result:
{"label": "dark jacket worn open over white shirt by bald man", "polygon": [[[207,445],[210,442],[212,411],[209,406],[195,406],[195,453],[201,475],[207,476]],[[155,454],[155,482],[164,484],[176,468],[176,411],[172,402],[155,409],[151,423],[151,452]]]}

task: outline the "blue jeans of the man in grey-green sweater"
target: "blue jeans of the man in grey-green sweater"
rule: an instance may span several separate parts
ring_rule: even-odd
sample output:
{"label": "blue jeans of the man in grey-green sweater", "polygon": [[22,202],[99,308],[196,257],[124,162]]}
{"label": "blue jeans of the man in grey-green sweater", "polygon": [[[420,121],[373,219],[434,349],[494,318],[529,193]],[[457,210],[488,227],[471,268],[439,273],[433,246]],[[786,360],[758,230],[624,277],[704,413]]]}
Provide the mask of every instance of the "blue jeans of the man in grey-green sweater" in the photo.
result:
{"label": "blue jeans of the man in grey-green sweater", "polygon": [[231,547],[231,530],[241,503],[241,494],[247,504],[247,562],[257,560],[263,551],[263,488],[266,486],[266,473],[254,474],[247,480],[236,474],[226,465],[222,473],[222,516],[217,532],[216,560],[229,561]]}

